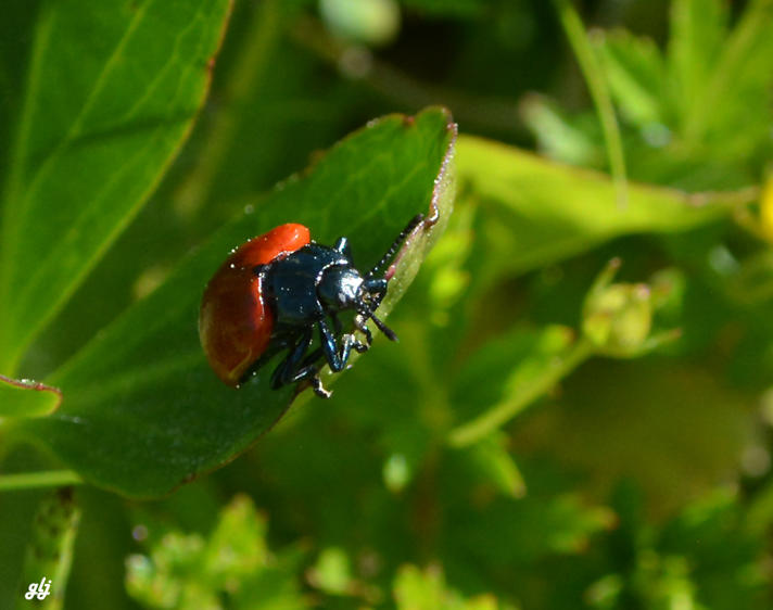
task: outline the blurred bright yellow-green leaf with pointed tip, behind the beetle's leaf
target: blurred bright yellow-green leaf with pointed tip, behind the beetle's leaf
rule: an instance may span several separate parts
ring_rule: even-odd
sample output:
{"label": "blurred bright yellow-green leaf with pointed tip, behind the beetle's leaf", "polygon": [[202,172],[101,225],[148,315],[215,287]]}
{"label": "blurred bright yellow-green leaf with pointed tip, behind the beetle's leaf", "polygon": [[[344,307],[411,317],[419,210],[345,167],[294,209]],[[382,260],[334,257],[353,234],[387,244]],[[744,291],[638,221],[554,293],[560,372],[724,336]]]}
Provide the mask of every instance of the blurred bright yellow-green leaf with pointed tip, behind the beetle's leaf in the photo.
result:
{"label": "blurred bright yellow-green leaf with pointed tip, behind the beetle's leaf", "polygon": [[524,272],[618,236],[675,232],[728,216],[756,189],[685,193],[631,183],[620,206],[609,177],[545,161],[497,142],[464,136],[458,170],[466,192],[485,208],[481,236],[490,256],[476,281]]}

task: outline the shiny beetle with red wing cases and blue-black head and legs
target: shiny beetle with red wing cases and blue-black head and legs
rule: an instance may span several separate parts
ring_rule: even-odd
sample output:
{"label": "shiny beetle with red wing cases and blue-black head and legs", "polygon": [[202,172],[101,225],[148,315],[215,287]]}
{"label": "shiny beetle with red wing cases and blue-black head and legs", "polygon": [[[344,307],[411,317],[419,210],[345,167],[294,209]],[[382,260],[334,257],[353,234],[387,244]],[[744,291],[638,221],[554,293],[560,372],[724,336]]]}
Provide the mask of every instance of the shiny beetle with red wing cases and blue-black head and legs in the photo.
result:
{"label": "shiny beetle with red wing cases and blue-black head and legs", "polygon": [[[315,394],[329,398],[320,367],[342,371],[351,351],[367,352],[373,323],[391,341],[395,333],[377,316],[389,280],[377,277],[423,215],[411,218],[381,259],[366,274],[354,265],[349,240],[316,243],[303,225],[280,225],[231,251],[202,296],[199,336],[217,377],[239,387],[278,353],[287,356],[271,374],[270,386],[311,381]],[[355,313],[354,326],[365,336],[344,333],[339,314]],[[332,323],[332,326],[331,326]],[[319,347],[311,351],[315,327]]]}

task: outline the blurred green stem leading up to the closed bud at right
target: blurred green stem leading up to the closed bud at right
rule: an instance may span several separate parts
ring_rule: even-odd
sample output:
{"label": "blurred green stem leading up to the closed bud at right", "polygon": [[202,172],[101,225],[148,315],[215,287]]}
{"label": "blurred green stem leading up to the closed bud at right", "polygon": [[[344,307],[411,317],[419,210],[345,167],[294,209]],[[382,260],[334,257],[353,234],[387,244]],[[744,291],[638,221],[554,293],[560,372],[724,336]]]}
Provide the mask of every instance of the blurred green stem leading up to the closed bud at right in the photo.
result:
{"label": "blurred green stem leading up to the closed bud at right", "polygon": [[546,368],[543,374],[529,387],[523,389],[515,399],[498,403],[480,417],[453,429],[448,434],[448,444],[456,448],[466,447],[487,436],[550,390],[561,378],[591,357],[593,352],[590,341],[579,339],[571,352],[555,366]]}

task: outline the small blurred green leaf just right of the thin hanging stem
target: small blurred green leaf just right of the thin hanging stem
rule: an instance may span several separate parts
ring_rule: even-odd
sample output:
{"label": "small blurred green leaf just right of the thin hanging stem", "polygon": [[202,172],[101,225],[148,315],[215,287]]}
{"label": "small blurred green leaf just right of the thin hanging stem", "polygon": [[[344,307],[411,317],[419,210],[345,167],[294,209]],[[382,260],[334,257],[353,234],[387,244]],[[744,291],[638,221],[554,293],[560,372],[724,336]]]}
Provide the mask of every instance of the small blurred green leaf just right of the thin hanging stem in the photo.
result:
{"label": "small blurred green leaf just right of the thin hanging stem", "polygon": [[593,38],[620,110],[639,126],[663,123],[664,66],[657,45],[625,30]]}

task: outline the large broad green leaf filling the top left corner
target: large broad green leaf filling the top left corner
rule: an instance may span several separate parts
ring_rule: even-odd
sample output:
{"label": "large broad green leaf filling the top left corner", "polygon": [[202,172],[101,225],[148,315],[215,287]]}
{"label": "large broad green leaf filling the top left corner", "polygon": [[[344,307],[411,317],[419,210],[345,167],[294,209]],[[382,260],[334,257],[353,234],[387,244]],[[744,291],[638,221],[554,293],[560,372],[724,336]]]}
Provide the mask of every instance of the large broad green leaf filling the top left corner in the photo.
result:
{"label": "large broad green leaf filling the top left corner", "polygon": [[3,115],[16,131],[3,177],[1,369],[13,372],[164,174],[204,100],[228,11],[228,0],[40,3],[24,97]]}

